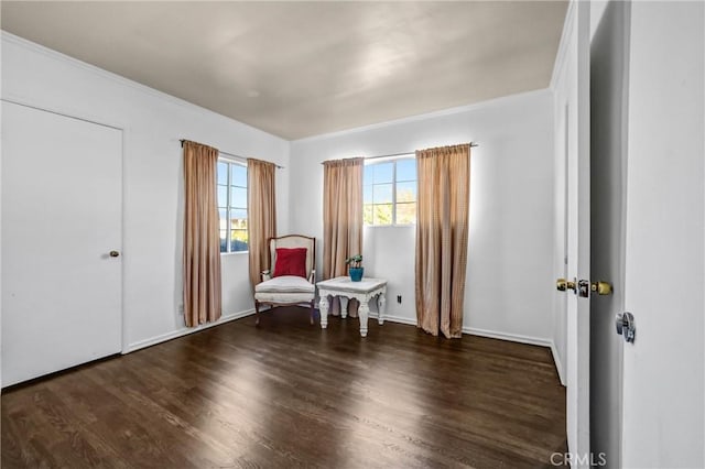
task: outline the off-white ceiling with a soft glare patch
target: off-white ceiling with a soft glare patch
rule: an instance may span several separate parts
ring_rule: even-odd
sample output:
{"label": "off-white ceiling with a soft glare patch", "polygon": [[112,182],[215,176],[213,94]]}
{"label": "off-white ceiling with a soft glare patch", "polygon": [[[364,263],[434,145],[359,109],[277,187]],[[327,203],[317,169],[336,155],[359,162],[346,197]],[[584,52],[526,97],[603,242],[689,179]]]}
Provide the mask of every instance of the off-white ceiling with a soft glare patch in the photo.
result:
{"label": "off-white ceiling with a soft glare patch", "polygon": [[565,1],[1,3],[2,29],[293,140],[549,86]]}

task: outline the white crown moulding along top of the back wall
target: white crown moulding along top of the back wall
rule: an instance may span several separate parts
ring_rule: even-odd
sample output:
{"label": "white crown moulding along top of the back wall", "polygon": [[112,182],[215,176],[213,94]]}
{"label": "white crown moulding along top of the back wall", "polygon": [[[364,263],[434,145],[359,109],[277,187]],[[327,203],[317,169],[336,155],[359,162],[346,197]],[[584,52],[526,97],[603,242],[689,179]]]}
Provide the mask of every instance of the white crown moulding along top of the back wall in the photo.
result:
{"label": "white crown moulding along top of the back wall", "polygon": [[[533,95],[541,95],[546,91],[551,92],[552,88],[546,87],[546,88],[533,89],[530,91],[522,91],[516,95],[502,96],[499,98],[488,99],[486,101],[475,102],[471,105],[458,106],[455,108],[426,112],[423,114],[416,114],[416,116],[411,116],[411,117],[401,118],[401,119],[388,120],[384,122],[371,123],[369,126],[356,127],[352,129],[338,130],[329,133],[321,133],[318,135],[304,137],[303,139],[290,140],[290,142],[299,143],[299,142],[312,142],[317,140],[326,140],[326,139],[333,139],[333,138],[348,135],[348,134],[358,133],[358,132],[367,132],[369,130],[375,130],[375,129],[383,129],[386,127],[400,126],[409,122],[417,122],[417,121],[434,119],[434,118],[444,117],[444,116],[453,116],[462,112],[477,111],[480,109],[492,108],[499,105],[505,105],[507,102],[511,102],[517,99],[524,99]],[[476,141],[476,139],[470,139],[470,141]],[[481,144],[481,141],[479,139],[477,139],[477,142]]]}

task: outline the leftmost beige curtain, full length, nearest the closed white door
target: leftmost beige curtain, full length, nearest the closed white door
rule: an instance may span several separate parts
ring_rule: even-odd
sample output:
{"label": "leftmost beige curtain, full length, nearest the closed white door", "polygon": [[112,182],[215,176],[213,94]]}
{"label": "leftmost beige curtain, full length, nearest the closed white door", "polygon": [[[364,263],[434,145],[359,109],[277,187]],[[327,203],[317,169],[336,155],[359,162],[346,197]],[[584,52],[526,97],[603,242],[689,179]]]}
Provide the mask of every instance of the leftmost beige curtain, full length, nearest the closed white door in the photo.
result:
{"label": "leftmost beige curtain, full length, nearest the closed white door", "polygon": [[184,318],[195,327],[220,317],[218,150],[184,141]]}

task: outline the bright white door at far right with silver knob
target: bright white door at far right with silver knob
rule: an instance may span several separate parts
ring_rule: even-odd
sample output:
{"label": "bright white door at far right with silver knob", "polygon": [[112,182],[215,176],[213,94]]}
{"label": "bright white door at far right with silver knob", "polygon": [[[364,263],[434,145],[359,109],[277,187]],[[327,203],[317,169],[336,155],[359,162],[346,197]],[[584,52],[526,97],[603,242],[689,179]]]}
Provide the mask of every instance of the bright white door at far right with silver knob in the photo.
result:
{"label": "bright white door at far right with silver knob", "polygon": [[632,2],[622,467],[705,465],[705,4]]}

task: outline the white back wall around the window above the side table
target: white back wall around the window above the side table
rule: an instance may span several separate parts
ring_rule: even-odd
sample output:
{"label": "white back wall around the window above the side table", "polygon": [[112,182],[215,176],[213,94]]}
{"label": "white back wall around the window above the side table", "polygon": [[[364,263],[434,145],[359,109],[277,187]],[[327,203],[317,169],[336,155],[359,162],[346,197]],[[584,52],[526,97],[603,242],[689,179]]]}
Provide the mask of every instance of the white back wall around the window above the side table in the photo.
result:
{"label": "white back wall around the window above the side table", "polygon": [[[480,146],[471,155],[464,329],[550,345],[554,142],[549,90],[292,142],[290,227],[318,239],[321,268],[321,162],[469,141]],[[388,314],[411,324],[414,237],[409,227],[367,228],[364,252],[366,275],[389,280]]]}

